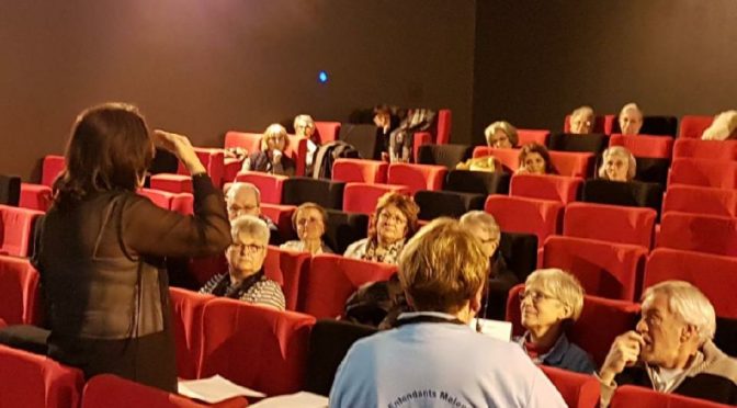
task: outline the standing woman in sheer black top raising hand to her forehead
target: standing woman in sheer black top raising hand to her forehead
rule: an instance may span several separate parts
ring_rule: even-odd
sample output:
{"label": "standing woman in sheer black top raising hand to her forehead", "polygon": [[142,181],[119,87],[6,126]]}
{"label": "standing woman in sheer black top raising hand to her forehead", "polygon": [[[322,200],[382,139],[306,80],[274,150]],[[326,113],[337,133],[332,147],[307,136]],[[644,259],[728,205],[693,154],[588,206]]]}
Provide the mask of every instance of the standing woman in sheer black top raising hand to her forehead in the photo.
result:
{"label": "standing woman in sheer black top raising hand to her forehead", "polygon": [[[136,194],[157,145],[182,161],[194,216]],[[163,257],[220,253],[230,243],[222,193],[184,136],[148,129],[135,106],[82,112],[67,169],[41,231],[35,260],[50,329],[48,355],[87,378],[112,373],[173,392],[177,386]]]}

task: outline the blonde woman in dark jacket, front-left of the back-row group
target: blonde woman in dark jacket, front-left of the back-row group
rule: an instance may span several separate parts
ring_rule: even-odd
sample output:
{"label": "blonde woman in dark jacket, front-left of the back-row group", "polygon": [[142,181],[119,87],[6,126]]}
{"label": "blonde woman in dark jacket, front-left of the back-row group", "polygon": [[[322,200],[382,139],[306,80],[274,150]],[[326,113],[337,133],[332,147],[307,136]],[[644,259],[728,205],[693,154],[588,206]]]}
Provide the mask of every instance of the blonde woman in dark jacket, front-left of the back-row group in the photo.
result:
{"label": "blonde woman in dark jacket, front-left of the back-row group", "polygon": [[261,138],[261,150],[254,151],[243,160],[242,170],[294,175],[296,169],[294,160],[285,155],[287,144],[284,126],[277,123],[270,125]]}

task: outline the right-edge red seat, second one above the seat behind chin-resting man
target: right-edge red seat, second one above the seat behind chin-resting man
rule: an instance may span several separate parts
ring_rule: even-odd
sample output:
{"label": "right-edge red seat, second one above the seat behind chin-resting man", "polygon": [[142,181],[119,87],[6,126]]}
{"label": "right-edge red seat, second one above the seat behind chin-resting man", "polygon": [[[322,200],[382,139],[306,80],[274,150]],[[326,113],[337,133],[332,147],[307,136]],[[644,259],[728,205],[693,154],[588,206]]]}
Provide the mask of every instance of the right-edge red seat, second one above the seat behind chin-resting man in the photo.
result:
{"label": "right-edge red seat, second one above the seat behind chin-resting man", "polygon": [[671,185],[662,199],[662,212],[671,211],[735,217],[737,190]]}

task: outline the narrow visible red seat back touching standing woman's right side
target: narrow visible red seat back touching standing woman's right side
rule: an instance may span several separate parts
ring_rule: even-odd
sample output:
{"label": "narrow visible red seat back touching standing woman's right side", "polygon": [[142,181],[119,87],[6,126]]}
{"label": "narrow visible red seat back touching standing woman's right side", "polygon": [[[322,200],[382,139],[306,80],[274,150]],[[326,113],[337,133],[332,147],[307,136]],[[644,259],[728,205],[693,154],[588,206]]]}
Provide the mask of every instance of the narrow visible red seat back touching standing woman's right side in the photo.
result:
{"label": "narrow visible red seat back touching standing woman's right side", "polygon": [[177,343],[177,375],[196,378],[202,354],[202,316],[205,304],[215,296],[170,287],[174,341]]}

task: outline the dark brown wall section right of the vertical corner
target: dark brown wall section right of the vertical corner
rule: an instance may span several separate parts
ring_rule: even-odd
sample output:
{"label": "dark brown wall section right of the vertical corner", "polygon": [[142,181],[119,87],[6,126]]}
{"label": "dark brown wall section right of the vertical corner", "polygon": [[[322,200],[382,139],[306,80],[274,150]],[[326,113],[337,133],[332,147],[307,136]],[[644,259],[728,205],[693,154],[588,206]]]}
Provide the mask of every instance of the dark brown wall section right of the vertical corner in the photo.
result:
{"label": "dark brown wall section right of the vertical corner", "polygon": [[560,129],[576,106],[737,107],[737,1],[477,2],[474,140],[488,123]]}

